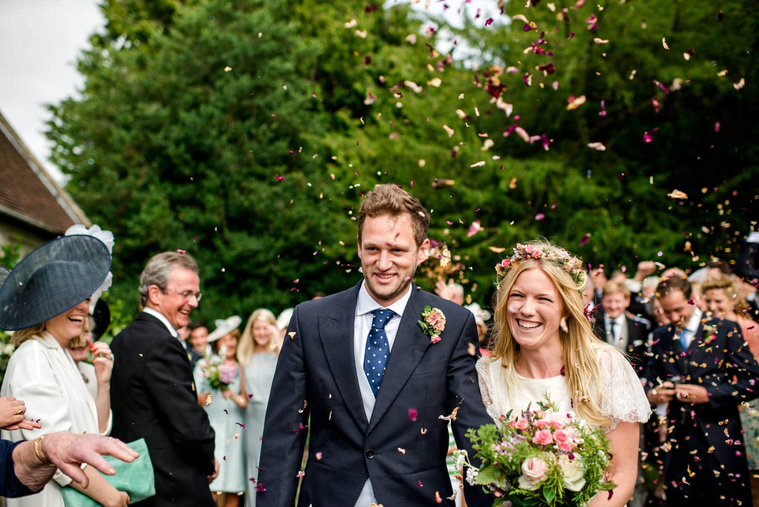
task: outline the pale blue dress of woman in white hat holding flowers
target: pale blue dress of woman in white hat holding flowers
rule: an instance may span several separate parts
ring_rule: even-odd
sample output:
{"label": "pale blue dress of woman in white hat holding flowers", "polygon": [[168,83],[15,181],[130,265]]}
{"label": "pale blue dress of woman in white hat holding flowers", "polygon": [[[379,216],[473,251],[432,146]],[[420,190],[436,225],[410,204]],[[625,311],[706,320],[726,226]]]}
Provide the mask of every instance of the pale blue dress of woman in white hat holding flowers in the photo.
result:
{"label": "pale blue dress of woman in white hat holding flowers", "polygon": [[[216,448],[213,455],[219,461],[219,475],[210,483],[211,491],[223,493],[242,493],[247,485],[245,477],[245,442],[243,439],[244,410],[231,399],[222,397],[222,392],[213,389],[203,376],[202,362],[195,366],[195,388],[198,393],[210,392],[211,404],[204,408],[213,431],[216,432]],[[235,379],[229,384],[235,393],[241,390],[240,369]]]}

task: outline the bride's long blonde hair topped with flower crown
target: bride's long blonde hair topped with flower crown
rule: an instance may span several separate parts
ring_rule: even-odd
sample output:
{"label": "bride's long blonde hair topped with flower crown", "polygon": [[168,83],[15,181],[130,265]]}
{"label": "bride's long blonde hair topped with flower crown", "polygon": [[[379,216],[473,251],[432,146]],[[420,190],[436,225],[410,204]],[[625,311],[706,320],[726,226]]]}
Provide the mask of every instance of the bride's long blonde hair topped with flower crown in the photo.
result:
{"label": "bride's long blonde hair topped with flower crown", "polygon": [[[559,329],[559,337],[565,365],[564,375],[575,413],[592,426],[609,426],[611,420],[600,408],[603,377],[598,361],[598,353],[606,344],[595,336],[583,311],[583,291],[588,280],[587,273],[581,268],[581,261],[574,257],[570,259],[572,274],[570,273],[565,255],[568,252],[564,249],[540,241],[532,242],[530,246],[529,250],[532,252],[544,252],[548,255],[523,258],[524,256],[517,254],[511,259],[508,268],[499,271],[503,277],[496,293],[495,331],[498,339],[493,348],[493,357],[501,360],[507,390],[510,391],[509,386],[517,382],[516,369],[512,366],[519,347],[512,337],[506,318],[509,293],[520,274],[531,269],[540,269],[553,281],[562,300],[566,326]],[[559,252],[562,255],[555,255]],[[578,276],[578,270],[583,271],[582,276]]]}

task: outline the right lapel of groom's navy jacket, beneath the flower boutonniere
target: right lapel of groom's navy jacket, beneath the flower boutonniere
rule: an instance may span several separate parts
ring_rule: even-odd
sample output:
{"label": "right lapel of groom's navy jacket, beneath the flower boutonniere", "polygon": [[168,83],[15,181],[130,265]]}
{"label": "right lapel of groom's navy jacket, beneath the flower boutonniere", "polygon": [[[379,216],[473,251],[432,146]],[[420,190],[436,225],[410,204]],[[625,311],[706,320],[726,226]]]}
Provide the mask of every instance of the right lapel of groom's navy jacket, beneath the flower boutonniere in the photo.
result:
{"label": "right lapel of groom's navy jacket, beneath the flower boutonniere", "polygon": [[430,337],[424,334],[417,324],[424,311],[422,299],[422,294],[417,291],[417,287],[411,284],[411,299],[408,300],[401,324],[398,326],[398,334],[395,335],[395,341],[392,344],[392,351],[387,360],[382,385],[377,393],[367,434],[385,415],[408,381],[408,377],[416,369],[427,347],[430,346]]}

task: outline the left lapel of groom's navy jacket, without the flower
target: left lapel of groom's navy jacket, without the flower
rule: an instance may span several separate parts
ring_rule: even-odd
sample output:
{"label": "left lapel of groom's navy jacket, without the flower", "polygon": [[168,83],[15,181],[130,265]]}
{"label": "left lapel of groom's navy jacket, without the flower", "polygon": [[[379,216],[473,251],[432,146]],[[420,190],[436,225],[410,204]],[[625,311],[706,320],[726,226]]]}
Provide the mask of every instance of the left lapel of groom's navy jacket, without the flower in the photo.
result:
{"label": "left lapel of groom's navy jacket, without the flower", "polygon": [[335,301],[332,312],[319,315],[319,337],[329,370],[335,379],[340,395],[361,431],[367,429],[367,414],[361,389],[358,388],[354,349],[354,320],[356,299],[361,284],[344,293]]}

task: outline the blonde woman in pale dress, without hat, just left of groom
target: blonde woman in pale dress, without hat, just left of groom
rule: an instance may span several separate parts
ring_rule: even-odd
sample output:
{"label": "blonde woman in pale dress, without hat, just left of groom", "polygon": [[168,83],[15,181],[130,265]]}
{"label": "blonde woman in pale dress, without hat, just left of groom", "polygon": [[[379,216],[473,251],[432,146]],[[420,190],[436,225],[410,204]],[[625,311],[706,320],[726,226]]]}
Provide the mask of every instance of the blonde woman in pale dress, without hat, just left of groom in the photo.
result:
{"label": "blonde woman in pale dress, without hat, just left of groom", "polygon": [[[279,355],[276,337],[279,335],[278,322],[274,314],[260,308],[250,314],[238,347],[238,360],[244,367],[245,390],[248,395],[245,410],[245,471],[247,491],[245,507],[256,505],[256,482],[261,455],[261,438],[263,422],[266,418],[266,405],[269,404],[269,391],[272,388],[274,370]],[[285,329],[287,323],[285,323]]]}

